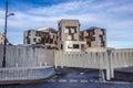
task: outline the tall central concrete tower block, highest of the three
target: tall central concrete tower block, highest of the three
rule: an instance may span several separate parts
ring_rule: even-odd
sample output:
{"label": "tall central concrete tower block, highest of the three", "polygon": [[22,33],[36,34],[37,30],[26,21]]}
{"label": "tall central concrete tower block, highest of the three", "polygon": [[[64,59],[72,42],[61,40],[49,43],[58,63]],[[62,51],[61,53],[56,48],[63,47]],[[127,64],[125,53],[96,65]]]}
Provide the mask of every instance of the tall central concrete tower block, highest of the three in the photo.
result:
{"label": "tall central concrete tower block, highest of the three", "polygon": [[80,40],[79,20],[62,19],[58,23],[58,47],[63,51],[81,51],[85,43]]}

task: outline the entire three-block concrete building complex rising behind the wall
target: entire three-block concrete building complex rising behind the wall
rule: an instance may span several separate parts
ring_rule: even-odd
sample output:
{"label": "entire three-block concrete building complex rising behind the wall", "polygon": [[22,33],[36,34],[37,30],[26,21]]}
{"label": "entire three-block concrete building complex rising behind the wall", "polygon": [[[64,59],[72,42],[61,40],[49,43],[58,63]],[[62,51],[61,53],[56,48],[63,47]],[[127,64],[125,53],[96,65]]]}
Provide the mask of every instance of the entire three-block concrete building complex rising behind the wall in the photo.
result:
{"label": "entire three-block concrete building complex rising behind the wall", "polygon": [[79,20],[62,19],[58,23],[58,31],[41,28],[24,32],[24,44],[43,44],[49,48],[62,51],[106,51],[106,30],[92,26],[80,31]]}

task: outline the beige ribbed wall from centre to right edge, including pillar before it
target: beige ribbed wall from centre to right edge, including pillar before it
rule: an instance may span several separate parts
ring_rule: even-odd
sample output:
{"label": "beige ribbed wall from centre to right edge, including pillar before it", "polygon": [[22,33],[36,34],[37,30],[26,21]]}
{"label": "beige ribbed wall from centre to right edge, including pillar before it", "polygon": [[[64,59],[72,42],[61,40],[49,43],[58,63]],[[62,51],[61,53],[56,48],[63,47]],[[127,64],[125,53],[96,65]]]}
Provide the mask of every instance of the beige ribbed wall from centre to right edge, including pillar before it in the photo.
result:
{"label": "beige ribbed wall from centre to right edge, including pillar before it", "polygon": [[106,79],[114,77],[114,68],[133,66],[133,51],[54,52],[55,67],[105,69]]}

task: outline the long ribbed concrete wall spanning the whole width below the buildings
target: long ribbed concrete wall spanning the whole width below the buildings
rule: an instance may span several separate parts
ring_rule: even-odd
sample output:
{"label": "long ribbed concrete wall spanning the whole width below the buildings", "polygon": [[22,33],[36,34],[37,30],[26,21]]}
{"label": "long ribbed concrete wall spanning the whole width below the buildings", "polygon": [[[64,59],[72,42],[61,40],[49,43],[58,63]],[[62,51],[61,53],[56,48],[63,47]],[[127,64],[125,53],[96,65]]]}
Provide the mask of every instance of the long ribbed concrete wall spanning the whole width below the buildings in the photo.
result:
{"label": "long ribbed concrete wall spanning the whole width below the buildings", "polygon": [[[2,67],[0,45],[0,67]],[[63,52],[28,46],[7,46],[7,67],[65,66],[105,69],[106,78],[114,76],[114,68],[133,66],[133,50],[109,52]]]}

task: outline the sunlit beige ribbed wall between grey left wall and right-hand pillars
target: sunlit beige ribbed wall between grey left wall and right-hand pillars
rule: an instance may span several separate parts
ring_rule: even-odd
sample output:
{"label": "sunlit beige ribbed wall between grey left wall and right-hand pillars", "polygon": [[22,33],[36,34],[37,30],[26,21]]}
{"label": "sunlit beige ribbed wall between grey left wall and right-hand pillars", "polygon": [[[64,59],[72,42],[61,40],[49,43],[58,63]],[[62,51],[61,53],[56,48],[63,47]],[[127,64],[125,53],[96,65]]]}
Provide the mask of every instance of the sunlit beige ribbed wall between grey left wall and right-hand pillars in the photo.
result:
{"label": "sunlit beige ribbed wall between grey left wall and right-hand pillars", "polygon": [[54,52],[55,66],[66,67],[83,67],[106,69],[109,61],[108,53],[92,53],[92,52]]}

